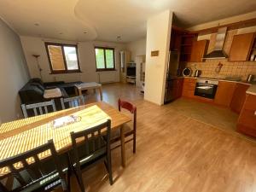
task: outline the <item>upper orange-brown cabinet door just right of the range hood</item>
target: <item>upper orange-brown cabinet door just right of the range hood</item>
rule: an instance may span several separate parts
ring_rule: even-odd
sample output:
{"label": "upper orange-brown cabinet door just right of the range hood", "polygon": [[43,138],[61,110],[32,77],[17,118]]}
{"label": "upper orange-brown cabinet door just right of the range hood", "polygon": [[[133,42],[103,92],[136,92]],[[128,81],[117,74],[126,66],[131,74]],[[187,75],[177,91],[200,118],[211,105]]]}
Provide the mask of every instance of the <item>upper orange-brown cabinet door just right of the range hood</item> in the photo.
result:
{"label": "upper orange-brown cabinet door just right of the range hood", "polygon": [[229,61],[247,61],[254,40],[254,33],[235,35],[230,48]]}

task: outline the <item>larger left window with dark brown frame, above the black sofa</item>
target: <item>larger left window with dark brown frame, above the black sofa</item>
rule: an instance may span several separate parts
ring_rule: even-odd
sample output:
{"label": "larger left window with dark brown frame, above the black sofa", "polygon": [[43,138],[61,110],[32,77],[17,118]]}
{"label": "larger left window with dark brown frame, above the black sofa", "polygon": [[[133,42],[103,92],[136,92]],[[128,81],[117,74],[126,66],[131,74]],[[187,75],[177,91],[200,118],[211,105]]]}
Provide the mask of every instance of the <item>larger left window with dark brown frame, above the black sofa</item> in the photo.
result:
{"label": "larger left window with dark brown frame, above the black sofa", "polygon": [[78,46],[45,43],[51,73],[80,72]]}

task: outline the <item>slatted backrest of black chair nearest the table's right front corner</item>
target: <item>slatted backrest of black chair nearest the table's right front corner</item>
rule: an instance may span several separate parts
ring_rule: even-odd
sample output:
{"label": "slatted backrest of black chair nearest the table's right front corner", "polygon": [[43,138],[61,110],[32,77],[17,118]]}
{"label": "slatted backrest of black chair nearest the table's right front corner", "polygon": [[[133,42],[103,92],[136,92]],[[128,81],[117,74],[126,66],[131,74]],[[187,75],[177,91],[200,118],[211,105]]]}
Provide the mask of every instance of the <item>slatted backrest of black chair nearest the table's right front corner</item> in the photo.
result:
{"label": "slatted backrest of black chair nearest the table's right front corner", "polygon": [[[80,167],[78,147],[81,145],[84,146],[84,157],[90,157],[102,149],[106,149],[106,155],[108,152],[110,153],[110,129],[111,120],[108,119],[101,125],[96,125],[95,127],[91,127],[84,131],[70,133],[73,145],[74,161],[78,168]],[[102,139],[103,136],[106,140]],[[83,144],[80,144],[78,141]],[[104,141],[104,143],[102,143],[102,141]]]}

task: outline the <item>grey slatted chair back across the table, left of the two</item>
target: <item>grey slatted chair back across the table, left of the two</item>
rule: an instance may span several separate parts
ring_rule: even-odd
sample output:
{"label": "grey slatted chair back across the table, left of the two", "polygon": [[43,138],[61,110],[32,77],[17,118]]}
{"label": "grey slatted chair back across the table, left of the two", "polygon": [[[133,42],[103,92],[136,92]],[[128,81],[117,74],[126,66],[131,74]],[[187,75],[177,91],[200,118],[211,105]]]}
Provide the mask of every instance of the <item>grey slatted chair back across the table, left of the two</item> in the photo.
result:
{"label": "grey slatted chair back across the table, left of the two", "polygon": [[48,113],[48,107],[51,106],[53,111],[56,111],[55,107],[55,101],[51,100],[49,102],[38,102],[38,103],[32,103],[32,104],[22,104],[21,109],[24,115],[24,118],[28,117],[27,110],[32,109],[34,116],[39,114]]}

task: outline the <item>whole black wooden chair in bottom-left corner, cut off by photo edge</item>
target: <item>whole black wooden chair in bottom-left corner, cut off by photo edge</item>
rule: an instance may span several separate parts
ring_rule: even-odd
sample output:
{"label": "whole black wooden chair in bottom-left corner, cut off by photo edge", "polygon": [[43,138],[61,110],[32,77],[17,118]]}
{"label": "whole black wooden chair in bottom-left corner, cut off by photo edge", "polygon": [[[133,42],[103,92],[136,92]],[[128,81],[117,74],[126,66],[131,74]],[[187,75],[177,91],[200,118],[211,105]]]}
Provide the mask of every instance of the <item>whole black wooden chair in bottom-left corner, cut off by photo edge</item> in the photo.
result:
{"label": "whole black wooden chair in bottom-left corner, cut off by photo edge", "polygon": [[[43,160],[38,154],[50,152]],[[28,162],[30,160],[30,162]],[[19,167],[17,167],[19,165]],[[61,186],[63,191],[69,191],[70,169],[61,166],[52,140],[33,148],[23,154],[18,154],[0,161],[0,169],[8,168],[9,175],[14,177],[14,185],[7,189],[0,181],[0,190],[4,192],[16,191],[51,191]],[[67,175],[67,180],[66,180]]]}

